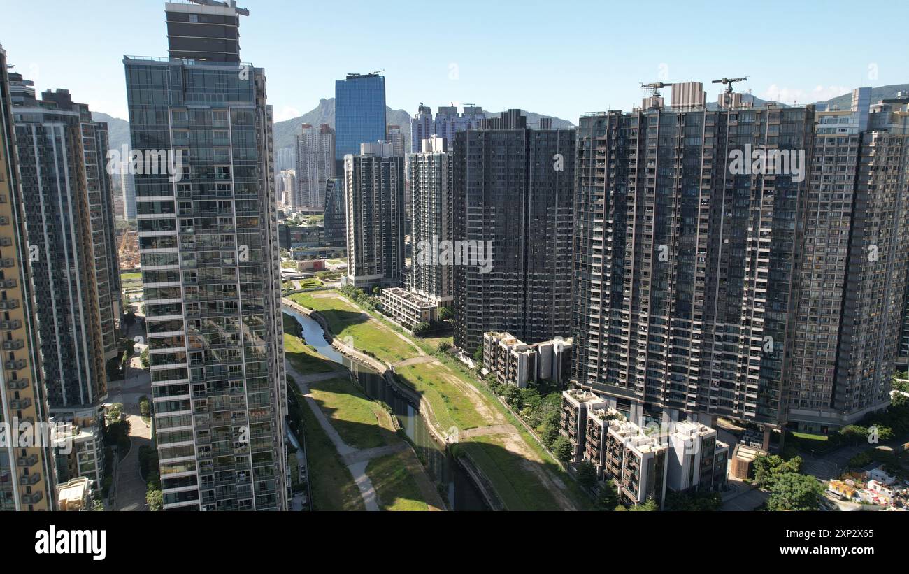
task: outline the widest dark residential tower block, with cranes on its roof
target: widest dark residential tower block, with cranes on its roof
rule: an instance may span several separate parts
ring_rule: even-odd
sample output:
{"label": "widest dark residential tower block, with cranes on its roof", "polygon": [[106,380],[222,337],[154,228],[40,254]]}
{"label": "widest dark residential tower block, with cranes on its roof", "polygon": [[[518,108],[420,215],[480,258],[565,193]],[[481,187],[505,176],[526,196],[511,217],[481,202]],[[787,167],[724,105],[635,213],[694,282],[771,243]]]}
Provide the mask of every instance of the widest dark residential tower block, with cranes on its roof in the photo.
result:
{"label": "widest dark residential tower block, with cranes on its roof", "polygon": [[573,379],[637,424],[695,412],[779,427],[806,166],[767,177],[731,155],[797,157],[814,108],[683,108],[654,96],[581,118]]}

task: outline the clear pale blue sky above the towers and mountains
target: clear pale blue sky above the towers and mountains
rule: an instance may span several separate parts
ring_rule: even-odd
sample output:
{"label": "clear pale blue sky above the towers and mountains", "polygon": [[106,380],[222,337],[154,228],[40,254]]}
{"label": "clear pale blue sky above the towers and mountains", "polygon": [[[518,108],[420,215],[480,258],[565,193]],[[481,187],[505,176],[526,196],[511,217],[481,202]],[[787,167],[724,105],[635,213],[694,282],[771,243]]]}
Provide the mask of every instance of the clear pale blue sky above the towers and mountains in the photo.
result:
{"label": "clear pale blue sky above the towers and mountains", "polygon": [[[385,70],[387,103],[520,107],[577,122],[638,104],[641,82],[750,76],[764,99],[814,102],[909,83],[904,0],[241,0],[241,57],[284,120],[335,79]],[[646,7],[644,7],[646,6]],[[124,54],[166,55],[162,0],[0,0],[0,44],[39,90],[126,117]],[[876,73],[876,75],[875,75]],[[719,88],[707,85],[715,101]]]}

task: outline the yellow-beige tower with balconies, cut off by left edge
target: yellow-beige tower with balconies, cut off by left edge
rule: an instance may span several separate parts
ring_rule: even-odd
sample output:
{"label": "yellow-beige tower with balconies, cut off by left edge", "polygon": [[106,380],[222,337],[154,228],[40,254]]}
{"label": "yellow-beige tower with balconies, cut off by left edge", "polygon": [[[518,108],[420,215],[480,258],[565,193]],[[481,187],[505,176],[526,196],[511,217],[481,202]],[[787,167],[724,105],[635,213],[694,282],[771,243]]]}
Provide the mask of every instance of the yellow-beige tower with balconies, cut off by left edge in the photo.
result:
{"label": "yellow-beige tower with balconies, cut off by left edge", "polygon": [[[0,46],[0,423],[17,431],[20,421],[36,425],[48,417],[9,88]],[[9,439],[0,446],[0,510],[53,509],[55,473],[48,445],[22,447]]]}

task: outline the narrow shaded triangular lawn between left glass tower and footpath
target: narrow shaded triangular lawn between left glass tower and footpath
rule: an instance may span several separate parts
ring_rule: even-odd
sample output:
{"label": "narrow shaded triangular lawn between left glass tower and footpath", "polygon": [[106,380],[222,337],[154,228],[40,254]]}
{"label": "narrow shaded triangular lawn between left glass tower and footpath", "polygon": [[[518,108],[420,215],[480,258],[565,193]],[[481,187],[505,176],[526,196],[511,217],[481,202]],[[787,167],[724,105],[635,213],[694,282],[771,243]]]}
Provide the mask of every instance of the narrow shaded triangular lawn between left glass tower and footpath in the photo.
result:
{"label": "narrow shaded triangular lawn between left glass tower and footpath", "polygon": [[305,403],[303,423],[306,433],[306,460],[315,510],[366,510],[354,477],[335,450],[335,445],[319,426],[309,403],[296,389],[297,399]]}

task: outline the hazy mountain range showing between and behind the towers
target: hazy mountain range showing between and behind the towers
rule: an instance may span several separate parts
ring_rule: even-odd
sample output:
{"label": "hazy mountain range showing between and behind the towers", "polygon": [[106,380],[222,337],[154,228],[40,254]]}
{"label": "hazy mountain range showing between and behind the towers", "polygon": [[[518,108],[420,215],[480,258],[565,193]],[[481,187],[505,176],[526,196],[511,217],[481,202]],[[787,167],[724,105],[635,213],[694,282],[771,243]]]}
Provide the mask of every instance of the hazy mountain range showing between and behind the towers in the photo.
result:
{"label": "hazy mountain range showing between and behind the towers", "polygon": [[[884,98],[892,98],[899,92],[909,93],[909,84],[890,84],[882,85],[871,90],[871,101],[877,102],[878,100]],[[751,101],[754,105],[767,104],[766,100],[762,100],[759,97],[756,97],[751,94],[743,94],[743,99],[745,101]],[[815,105],[818,107],[826,106],[827,108],[833,108],[840,110],[847,110],[852,104],[852,94],[843,94],[826,100],[824,102],[815,102]],[[786,106],[786,104],[779,104]],[[715,107],[715,104],[708,104],[708,107]],[[786,106],[788,107],[788,106]],[[487,112],[486,115],[492,116],[500,114],[499,112]],[[569,128],[573,127],[574,124],[567,120],[561,118],[553,117],[550,115],[536,114],[534,112],[526,112],[524,114],[527,116],[527,124],[534,125],[539,124],[540,118],[552,118],[553,127],[555,128]],[[124,144],[129,145],[129,123],[126,120],[120,118],[112,117],[108,114],[102,112],[92,112],[92,117],[95,121],[107,122],[108,135],[110,138],[111,149],[120,149]],[[410,118],[411,113],[406,110],[393,110],[390,107],[385,109],[385,121],[389,125],[400,125],[401,131],[405,134],[405,142],[410,141]],[[300,131],[301,124],[328,124],[332,127],[335,127],[335,98],[322,98],[319,100],[319,104],[315,106],[313,110],[285,120],[283,122],[275,122],[275,150],[283,150],[288,148],[293,148],[294,146],[294,136]]]}

